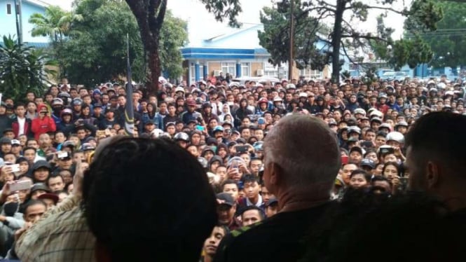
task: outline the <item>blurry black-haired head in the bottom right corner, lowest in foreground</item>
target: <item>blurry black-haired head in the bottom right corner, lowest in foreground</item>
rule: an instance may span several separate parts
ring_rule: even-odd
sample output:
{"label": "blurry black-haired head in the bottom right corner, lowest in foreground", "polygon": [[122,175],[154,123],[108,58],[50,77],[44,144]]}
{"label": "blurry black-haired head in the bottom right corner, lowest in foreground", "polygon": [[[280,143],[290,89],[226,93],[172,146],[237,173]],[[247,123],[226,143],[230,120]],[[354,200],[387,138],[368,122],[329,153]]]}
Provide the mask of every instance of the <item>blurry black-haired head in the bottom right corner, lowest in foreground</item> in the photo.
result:
{"label": "blurry black-haired head in the bottom right corner, lowest in foreground", "polygon": [[326,262],[459,261],[466,256],[463,221],[420,193],[373,195],[348,191],[311,227],[306,255]]}

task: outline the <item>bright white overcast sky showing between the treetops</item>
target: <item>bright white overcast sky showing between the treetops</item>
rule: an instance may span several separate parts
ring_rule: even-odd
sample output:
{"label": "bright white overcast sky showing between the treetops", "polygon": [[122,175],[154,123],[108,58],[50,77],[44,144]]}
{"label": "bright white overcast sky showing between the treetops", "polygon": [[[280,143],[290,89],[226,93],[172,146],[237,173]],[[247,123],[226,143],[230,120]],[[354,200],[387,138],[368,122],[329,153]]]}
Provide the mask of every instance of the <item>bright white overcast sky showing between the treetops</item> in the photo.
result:
{"label": "bright white overcast sky showing between the treetops", "polygon": [[[71,9],[72,0],[42,1],[61,6],[62,8],[66,8],[68,10]],[[367,1],[371,3],[370,0]],[[242,22],[245,26],[249,24],[258,24],[260,22],[259,11],[261,10],[261,8],[263,6],[272,5],[272,0],[240,0],[240,2],[242,5],[243,12],[238,17],[238,20]],[[411,3],[411,0],[404,0],[398,2],[399,4],[404,2],[404,4],[408,5],[409,3]],[[213,15],[208,13],[205,10],[203,4],[200,4],[200,1],[198,0],[168,0],[168,8],[172,10],[175,16],[183,18],[184,20],[188,20],[191,27],[205,27],[206,30],[209,30],[214,27],[226,27],[226,25],[221,25],[219,22],[215,21]],[[380,13],[380,11],[371,12],[369,14],[368,21],[362,25],[358,25],[358,27],[367,32],[375,32],[375,18]],[[386,25],[395,29],[395,34],[393,35],[395,39],[399,38],[399,36],[402,34],[403,21],[404,20],[399,15],[389,15],[388,18],[385,20]]]}

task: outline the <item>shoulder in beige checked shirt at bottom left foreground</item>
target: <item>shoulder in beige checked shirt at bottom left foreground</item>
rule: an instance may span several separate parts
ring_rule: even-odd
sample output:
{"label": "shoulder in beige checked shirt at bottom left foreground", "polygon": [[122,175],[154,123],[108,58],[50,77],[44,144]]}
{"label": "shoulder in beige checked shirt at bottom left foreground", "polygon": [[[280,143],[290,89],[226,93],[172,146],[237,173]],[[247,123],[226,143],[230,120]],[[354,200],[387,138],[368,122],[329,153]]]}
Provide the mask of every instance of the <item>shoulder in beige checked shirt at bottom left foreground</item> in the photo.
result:
{"label": "shoulder in beige checked shirt at bottom left foreground", "polygon": [[67,198],[20,237],[15,253],[21,261],[95,261],[95,237],[79,201]]}

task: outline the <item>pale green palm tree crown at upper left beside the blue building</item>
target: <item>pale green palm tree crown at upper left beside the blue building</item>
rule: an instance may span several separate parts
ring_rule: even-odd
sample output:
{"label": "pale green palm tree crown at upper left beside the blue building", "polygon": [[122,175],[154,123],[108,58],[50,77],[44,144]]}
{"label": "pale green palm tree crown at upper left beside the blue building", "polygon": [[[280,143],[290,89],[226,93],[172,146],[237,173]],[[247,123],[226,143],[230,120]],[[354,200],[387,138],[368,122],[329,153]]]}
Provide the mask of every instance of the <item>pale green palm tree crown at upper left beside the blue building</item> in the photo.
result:
{"label": "pale green palm tree crown at upper left beside the blue building", "polygon": [[70,34],[71,23],[81,20],[82,15],[64,11],[60,6],[48,6],[45,15],[34,13],[29,18],[34,25],[32,36],[50,36],[53,43],[62,43]]}

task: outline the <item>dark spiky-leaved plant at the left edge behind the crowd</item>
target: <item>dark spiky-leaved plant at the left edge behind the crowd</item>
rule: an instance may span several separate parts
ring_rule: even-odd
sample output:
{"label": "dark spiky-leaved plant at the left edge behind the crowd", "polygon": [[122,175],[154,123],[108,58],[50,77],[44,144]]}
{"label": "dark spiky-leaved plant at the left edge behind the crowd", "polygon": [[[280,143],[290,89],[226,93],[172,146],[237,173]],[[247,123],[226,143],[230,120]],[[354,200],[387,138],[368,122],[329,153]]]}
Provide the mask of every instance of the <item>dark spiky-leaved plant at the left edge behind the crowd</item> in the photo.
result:
{"label": "dark spiky-leaved plant at the left edge behind the crowd", "polygon": [[54,76],[55,66],[41,49],[18,44],[11,36],[4,36],[0,46],[0,92],[15,101],[25,98],[27,91],[42,95],[47,88],[48,76]]}

